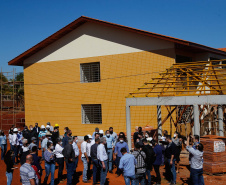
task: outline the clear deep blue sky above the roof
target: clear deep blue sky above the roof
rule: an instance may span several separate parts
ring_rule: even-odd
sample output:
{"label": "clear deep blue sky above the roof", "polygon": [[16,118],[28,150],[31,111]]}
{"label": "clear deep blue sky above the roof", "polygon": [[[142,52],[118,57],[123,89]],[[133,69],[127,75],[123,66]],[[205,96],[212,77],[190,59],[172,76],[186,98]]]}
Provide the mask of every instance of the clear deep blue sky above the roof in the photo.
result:
{"label": "clear deep blue sky above the roof", "polygon": [[0,67],[80,16],[226,48],[226,0],[0,0]]}

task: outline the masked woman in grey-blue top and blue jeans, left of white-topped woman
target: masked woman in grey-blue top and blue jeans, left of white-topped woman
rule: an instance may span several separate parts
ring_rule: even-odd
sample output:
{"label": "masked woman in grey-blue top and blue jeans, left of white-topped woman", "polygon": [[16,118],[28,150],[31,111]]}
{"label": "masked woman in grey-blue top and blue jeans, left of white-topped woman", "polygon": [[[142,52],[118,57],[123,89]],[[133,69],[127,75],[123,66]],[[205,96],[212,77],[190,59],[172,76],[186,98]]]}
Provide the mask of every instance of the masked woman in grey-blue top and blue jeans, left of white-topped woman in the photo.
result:
{"label": "masked woman in grey-blue top and blue jeans, left of white-topped woman", "polygon": [[47,143],[47,150],[44,152],[45,171],[44,184],[47,184],[49,174],[51,173],[50,185],[54,185],[54,172],[55,172],[55,155],[53,153],[53,143]]}

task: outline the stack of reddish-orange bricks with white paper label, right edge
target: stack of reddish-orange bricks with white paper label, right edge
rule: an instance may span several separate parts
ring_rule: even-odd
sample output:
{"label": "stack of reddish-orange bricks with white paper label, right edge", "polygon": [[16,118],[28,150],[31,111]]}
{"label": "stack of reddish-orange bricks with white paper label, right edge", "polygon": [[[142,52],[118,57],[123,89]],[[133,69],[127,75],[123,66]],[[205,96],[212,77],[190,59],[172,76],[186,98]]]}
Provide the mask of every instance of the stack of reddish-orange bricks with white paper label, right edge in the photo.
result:
{"label": "stack of reddish-orange bricks with white paper label, right edge", "polygon": [[209,174],[226,172],[225,137],[205,136],[200,139],[204,147],[203,171]]}

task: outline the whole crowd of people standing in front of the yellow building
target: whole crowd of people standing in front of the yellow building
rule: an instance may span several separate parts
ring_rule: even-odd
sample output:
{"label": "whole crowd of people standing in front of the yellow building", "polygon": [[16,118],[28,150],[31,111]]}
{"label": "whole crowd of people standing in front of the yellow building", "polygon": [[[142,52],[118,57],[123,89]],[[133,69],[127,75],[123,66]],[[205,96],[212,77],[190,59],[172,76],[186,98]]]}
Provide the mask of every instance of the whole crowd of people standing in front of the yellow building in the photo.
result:
{"label": "whole crowd of people standing in front of the yellow building", "polygon": [[[7,139],[10,150],[7,151]],[[193,145],[190,146],[191,140]],[[134,133],[134,150],[129,150],[127,138],[124,132],[116,134],[113,127],[105,132],[96,128],[92,135],[84,136],[81,148],[78,147],[78,137],[72,135],[72,131],[64,128],[64,134],[60,135],[59,125],[24,127],[12,126],[9,135],[6,137],[3,131],[0,132],[1,159],[6,164],[7,185],[10,185],[13,178],[13,171],[20,163],[20,177],[22,184],[39,185],[44,162],[45,177],[43,184],[47,184],[50,177],[50,185],[54,185],[54,174],[56,164],[58,165],[58,183],[67,180],[71,185],[76,178],[76,169],[79,157],[83,163],[82,181],[100,185],[106,183],[107,173],[113,173],[116,169],[116,178],[123,176],[126,185],[151,185],[151,171],[156,174],[156,185],[161,184],[160,166],[165,165],[166,179],[170,184],[176,184],[176,175],[179,173],[180,152],[182,144],[186,145],[190,153],[190,177],[193,184],[203,185],[203,145],[199,142],[198,136],[182,138],[178,132],[171,138],[167,131],[164,131],[161,140],[158,142],[150,132],[142,131],[142,127]],[[42,151],[42,156],[38,155]],[[63,179],[63,170],[66,164],[67,178]],[[91,165],[92,164],[92,165]],[[92,169],[91,169],[92,166]],[[177,170],[176,170],[177,169]]]}

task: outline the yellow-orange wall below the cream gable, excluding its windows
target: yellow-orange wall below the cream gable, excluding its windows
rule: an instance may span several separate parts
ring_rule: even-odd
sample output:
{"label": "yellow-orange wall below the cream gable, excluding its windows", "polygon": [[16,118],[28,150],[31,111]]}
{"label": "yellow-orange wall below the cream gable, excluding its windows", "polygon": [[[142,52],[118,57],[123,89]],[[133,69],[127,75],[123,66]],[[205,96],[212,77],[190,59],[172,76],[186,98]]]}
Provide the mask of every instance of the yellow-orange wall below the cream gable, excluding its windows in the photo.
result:
{"label": "yellow-orange wall below the cream gable, excluding its windows", "polygon": [[[80,83],[80,63],[100,62],[101,82]],[[42,62],[24,66],[26,124],[58,123],[60,132],[92,134],[95,127],[126,131],[125,97],[175,62],[174,49]],[[102,124],[82,124],[81,104],[102,104]],[[163,109],[163,118],[166,110]],[[156,127],[156,107],[132,107],[132,131]],[[169,130],[169,123],[163,129]]]}

